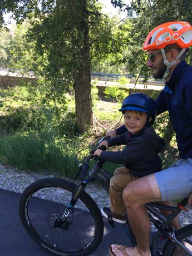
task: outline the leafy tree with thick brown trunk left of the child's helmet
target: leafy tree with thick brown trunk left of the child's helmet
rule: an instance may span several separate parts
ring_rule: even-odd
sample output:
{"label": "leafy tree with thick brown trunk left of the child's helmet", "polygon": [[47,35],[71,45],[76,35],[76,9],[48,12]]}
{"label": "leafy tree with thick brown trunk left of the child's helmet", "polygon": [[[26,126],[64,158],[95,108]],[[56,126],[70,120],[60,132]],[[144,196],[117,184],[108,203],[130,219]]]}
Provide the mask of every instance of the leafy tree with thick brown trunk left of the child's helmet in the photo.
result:
{"label": "leafy tree with thick brown trunk left of the child's helmet", "polygon": [[36,53],[43,59],[43,75],[51,81],[47,96],[55,98],[73,84],[80,132],[93,122],[91,58],[105,56],[112,41],[109,21],[100,9],[96,0],[42,0],[39,4],[5,0],[2,4],[2,10],[12,11],[18,22],[31,19],[28,40],[35,41]]}

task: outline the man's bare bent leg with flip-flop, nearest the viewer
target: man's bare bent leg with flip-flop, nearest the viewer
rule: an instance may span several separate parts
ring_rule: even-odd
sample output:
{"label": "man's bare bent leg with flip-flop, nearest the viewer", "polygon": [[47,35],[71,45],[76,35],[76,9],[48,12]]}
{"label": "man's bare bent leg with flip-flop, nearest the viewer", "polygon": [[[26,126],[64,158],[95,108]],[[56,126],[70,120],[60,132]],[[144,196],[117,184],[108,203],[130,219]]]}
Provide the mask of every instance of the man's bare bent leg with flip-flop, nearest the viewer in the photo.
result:
{"label": "man's bare bent leg with flip-flop, nearest the viewer", "polygon": [[[150,201],[160,201],[161,193],[155,175],[148,175],[132,181],[123,191],[127,218],[134,232],[137,247],[125,250],[130,256],[150,256],[150,218],[145,204]],[[112,245],[112,251],[117,256],[124,256],[119,245]]]}

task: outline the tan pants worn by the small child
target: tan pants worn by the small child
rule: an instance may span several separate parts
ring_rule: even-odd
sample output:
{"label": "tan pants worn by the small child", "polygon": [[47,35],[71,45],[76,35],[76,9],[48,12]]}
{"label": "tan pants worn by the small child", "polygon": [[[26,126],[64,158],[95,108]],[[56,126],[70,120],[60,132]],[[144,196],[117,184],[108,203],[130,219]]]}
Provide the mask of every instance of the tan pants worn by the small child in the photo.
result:
{"label": "tan pants worn by the small child", "polygon": [[114,176],[110,180],[110,209],[112,213],[125,214],[124,201],[122,200],[122,191],[132,180],[137,179],[129,173],[125,167],[117,168]]}

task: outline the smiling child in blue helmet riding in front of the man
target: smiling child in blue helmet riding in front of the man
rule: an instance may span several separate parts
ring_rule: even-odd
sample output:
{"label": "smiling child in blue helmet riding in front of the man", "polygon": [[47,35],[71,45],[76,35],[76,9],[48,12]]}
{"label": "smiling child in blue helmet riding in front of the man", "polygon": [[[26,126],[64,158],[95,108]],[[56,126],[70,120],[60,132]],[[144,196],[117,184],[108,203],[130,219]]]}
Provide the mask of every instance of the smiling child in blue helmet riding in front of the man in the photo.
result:
{"label": "smiling child in blue helmet riding in front of the man", "polygon": [[156,104],[144,93],[132,93],[122,102],[120,111],[124,114],[125,134],[101,142],[106,148],[126,145],[122,151],[102,151],[94,153],[102,160],[125,167],[117,168],[110,180],[110,208],[103,207],[102,214],[119,223],[126,222],[122,191],[132,180],[161,170],[161,158],[158,153],[165,147],[165,141],[159,137],[153,127],[156,117]]}

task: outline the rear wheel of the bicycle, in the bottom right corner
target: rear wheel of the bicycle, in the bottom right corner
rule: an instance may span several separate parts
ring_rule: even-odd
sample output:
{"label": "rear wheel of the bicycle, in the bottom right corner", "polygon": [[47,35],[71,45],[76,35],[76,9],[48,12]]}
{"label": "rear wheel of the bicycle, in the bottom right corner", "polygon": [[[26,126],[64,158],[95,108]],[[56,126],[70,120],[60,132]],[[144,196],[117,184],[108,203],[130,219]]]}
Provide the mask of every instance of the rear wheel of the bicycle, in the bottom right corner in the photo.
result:
{"label": "rear wheel of the bicycle, in the bottom right corner", "polygon": [[[177,232],[175,232],[175,237],[181,242],[181,241],[188,241],[188,243],[191,245],[190,250],[192,252],[192,224],[187,225],[181,229],[179,229]],[[171,240],[168,240],[165,243],[165,246],[163,248],[163,256],[174,256],[174,255],[188,255],[186,254],[182,249],[179,248],[178,246],[171,242]]]}

